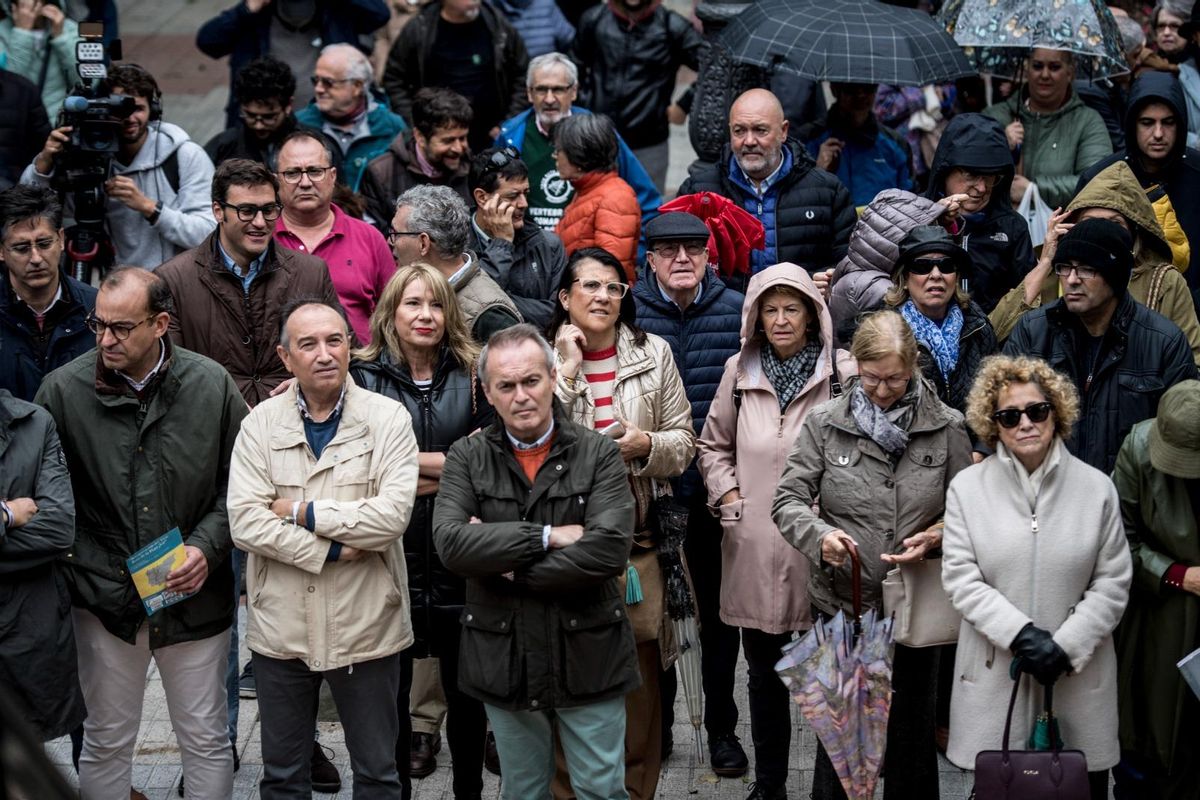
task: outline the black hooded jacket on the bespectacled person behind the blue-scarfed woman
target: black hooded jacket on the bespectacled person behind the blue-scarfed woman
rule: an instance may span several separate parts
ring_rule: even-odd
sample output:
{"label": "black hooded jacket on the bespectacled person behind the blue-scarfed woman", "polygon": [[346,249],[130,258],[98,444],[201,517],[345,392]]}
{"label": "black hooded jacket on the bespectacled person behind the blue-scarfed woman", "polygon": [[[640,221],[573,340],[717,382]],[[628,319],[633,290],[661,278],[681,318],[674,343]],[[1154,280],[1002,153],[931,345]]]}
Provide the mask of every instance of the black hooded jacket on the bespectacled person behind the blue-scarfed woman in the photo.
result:
{"label": "black hooded jacket on the bespectacled person behind the blue-scarfed woman", "polygon": [[971,299],[990,312],[1036,261],[1030,227],[1013,210],[1009,199],[1015,168],[1000,122],[983,114],[959,114],[950,120],[934,154],[925,197],[931,200],[946,197],[946,176],[955,167],[1002,173],[986,207],[960,217],[962,228],[954,234],[954,241],[974,265],[966,287]]}

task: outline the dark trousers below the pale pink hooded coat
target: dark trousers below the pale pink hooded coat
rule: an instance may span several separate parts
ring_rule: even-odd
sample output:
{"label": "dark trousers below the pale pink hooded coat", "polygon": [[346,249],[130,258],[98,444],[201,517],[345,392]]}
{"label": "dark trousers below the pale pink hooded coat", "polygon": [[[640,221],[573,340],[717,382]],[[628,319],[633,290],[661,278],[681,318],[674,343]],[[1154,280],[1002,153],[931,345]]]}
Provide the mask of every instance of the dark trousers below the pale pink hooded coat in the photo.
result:
{"label": "dark trousers below the pale pink hooded coat", "polygon": [[780,650],[791,633],[764,633],[742,628],[742,648],[750,672],[750,736],[754,739],[754,777],[758,786],[778,788],[787,782],[787,753],[792,745],[792,702],[775,672]]}

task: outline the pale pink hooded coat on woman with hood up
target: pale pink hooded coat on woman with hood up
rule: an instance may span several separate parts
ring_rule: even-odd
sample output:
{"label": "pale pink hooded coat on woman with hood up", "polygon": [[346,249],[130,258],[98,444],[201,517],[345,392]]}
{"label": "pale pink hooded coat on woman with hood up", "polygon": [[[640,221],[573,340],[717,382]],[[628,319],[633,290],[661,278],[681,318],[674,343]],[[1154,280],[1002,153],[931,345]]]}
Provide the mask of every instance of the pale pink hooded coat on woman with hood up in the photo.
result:
{"label": "pale pink hooded coat on woman with hood up", "polygon": [[[762,368],[758,301],[772,287],[790,287],[818,309],[821,357],[804,389],[787,409]],[[750,278],[742,312],[742,351],[725,362],[725,374],[697,441],[697,464],[708,504],[721,518],[721,620],[767,633],[803,631],[809,613],[809,563],[790,547],[770,519],[775,486],[800,423],[830,397],[833,324],[821,291],[794,264],[778,264]],[[740,408],[734,401],[740,395]],[[721,505],[738,489],[740,500]]]}

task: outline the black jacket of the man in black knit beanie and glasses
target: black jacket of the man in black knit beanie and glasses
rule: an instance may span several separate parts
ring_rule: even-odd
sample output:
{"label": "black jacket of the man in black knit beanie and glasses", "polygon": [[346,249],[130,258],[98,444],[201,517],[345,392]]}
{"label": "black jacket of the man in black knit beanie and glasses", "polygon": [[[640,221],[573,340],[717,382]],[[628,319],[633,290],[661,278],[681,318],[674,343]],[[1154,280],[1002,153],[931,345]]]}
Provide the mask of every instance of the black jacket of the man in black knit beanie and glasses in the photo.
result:
{"label": "black jacket of the man in black knit beanie and glasses", "polygon": [[1081,363],[1087,330],[1062,300],[1026,313],[1004,342],[1004,355],[1044,359],[1079,389],[1079,421],[1067,447],[1105,475],[1138,422],[1158,413],[1168,389],[1196,377],[1188,339],[1174,323],[1128,291],[1112,314],[1096,367]]}

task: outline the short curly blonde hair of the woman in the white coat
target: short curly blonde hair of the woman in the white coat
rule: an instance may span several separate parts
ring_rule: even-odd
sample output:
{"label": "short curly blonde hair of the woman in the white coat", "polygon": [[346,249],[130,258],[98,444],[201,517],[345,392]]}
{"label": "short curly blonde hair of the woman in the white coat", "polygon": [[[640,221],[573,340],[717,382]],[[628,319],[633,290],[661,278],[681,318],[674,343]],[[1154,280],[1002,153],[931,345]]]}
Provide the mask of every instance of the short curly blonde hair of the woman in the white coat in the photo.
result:
{"label": "short curly blonde hair of the woman in the white coat", "polygon": [[984,444],[995,447],[1000,423],[991,419],[1000,392],[1014,384],[1033,384],[1054,407],[1054,428],[1060,439],[1070,437],[1079,419],[1079,392],[1075,385],[1042,359],[992,355],[984,359],[967,396],[967,425]]}

